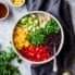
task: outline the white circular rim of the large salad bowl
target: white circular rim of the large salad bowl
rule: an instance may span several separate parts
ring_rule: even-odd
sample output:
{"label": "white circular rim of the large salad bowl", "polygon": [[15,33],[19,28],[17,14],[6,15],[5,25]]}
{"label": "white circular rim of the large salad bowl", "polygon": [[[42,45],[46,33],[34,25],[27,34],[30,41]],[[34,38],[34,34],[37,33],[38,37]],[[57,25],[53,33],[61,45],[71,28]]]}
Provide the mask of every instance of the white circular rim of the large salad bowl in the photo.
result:
{"label": "white circular rim of the large salad bowl", "polygon": [[[57,51],[57,53],[55,53],[55,55],[58,55],[58,54],[60,53],[60,51],[62,50],[62,47],[63,47],[63,43],[64,43],[64,32],[63,32],[63,28],[62,28],[60,22],[59,22],[52,14],[47,13],[47,12],[42,12],[42,11],[33,11],[33,12],[28,12],[28,13],[25,14],[25,15],[28,15],[28,14],[32,14],[32,13],[43,13],[43,14],[47,14],[47,15],[49,15],[50,17],[54,18],[54,20],[57,21],[57,23],[59,24],[59,27],[60,27],[60,29],[61,29],[61,42],[60,42],[59,48],[58,48],[58,51]],[[23,16],[25,16],[25,15],[23,15]],[[22,17],[23,17],[23,16],[22,16]],[[22,18],[22,17],[21,17],[21,18]],[[20,18],[20,20],[21,20],[21,18]],[[18,21],[20,21],[20,20],[18,20]],[[16,22],[16,24],[18,23],[18,21]],[[15,26],[16,26],[16,24],[15,24]],[[15,28],[15,26],[14,26],[14,28]],[[13,29],[13,30],[14,30],[14,29]],[[13,32],[12,32],[12,34],[13,34]],[[12,35],[12,37],[13,37],[13,35]],[[13,38],[12,38],[12,42],[13,42]],[[41,62],[29,61],[28,59],[24,58],[24,57],[16,50],[14,43],[13,43],[13,48],[14,48],[14,51],[16,52],[16,54],[20,55],[21,59],[23,59],[24,61],[27,61],[27,62],[29,62],[29,63],[32,63],[32,64],[43,64],[43,63],[47,63],[47,62],[49,62],[49,61],[51,61],[51,60],[54,59],[54,55],[53,55],[53,57],[51,57],[50,59],[48,59],[48,60],[46,60],[46,61],[41,61]]]}

